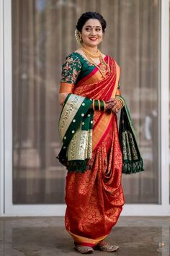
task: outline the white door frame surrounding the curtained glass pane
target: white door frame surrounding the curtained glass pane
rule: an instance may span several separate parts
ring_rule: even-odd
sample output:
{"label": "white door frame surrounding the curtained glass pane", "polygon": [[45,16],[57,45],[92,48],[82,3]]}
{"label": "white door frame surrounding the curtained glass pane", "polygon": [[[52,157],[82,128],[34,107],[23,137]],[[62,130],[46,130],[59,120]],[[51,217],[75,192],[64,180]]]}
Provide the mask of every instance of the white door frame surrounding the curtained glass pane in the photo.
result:
{"label": "white door frame surrounding the curtained glass pane", "polygon": [[[170,216],[169,205],[169,0],[161,1],[161,205],[128,204],[122,216]],[[12,13],[0,0],[0,216],[63,216],[66,205],[12,205]]]}

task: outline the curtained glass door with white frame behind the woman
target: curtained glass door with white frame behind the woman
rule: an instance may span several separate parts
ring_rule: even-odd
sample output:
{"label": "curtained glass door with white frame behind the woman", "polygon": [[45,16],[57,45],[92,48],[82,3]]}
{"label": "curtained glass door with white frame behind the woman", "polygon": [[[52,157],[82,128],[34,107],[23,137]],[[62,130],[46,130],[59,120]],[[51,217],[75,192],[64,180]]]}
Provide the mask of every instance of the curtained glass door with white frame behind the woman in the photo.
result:
{"label": "curtained glass door with white frame behind the woman", "polygon": [[[91,7],[89,9],[89,6]],[[4,140],[7,215],[64,215],[66,170],[56,155],[61,65],[79,46],[82,12],[107,20],[102,51],[121,67],[146,171],[122,177],[123,214],[161,214],[161,1],[4,1]],[[114,14],[114,15],[113,15]]]}

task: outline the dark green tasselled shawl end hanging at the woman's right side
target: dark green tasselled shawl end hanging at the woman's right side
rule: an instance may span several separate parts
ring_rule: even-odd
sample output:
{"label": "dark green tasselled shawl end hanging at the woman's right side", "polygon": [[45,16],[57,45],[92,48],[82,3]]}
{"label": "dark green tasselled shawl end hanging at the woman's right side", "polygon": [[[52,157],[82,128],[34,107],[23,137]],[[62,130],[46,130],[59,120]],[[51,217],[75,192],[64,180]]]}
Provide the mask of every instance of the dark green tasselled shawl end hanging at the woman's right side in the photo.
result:
{"label": "dark green tasselled shawl end hanging at the woman's right side", "polygon": [[119,139],[123,159],[122,174],[135,174],[139,171],[144,171],[143,158],[140,155],[128,106],[122,96],[117,95],[116,98],[120,98],[124,103],[120,114],[119,125]]}

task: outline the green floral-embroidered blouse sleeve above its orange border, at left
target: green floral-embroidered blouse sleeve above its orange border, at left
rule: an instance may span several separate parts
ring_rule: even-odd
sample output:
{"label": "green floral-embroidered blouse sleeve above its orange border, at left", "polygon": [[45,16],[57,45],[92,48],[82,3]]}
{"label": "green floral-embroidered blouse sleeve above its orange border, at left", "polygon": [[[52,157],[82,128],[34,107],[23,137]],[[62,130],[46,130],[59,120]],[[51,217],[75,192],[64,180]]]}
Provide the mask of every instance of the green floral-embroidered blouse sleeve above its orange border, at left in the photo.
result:
{"label": "green floral-embroidered blouse sleeve above its orange border, at left", "polygon": [[78,56],[70,54],[62,66],[61,82],[68,82],[75,85],[81,72],[81,61]]}

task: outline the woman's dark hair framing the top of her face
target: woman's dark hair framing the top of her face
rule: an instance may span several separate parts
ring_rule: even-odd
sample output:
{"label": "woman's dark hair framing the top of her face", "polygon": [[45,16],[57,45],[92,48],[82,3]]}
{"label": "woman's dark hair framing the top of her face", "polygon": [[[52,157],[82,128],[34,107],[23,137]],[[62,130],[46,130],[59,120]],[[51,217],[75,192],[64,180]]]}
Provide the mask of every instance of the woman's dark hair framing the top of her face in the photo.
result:
{"label": "woman's dark hair framing the top of her face", "polygon": [[99,14],[98,12],[84,12],[81,15],[81,17],[79,17],[79,20],[77,21],[76,29],[79,30],[79,32],[81,32],[82,27],[84,26],[86,21],[89,20],[89,19],[97,19],[97,20],[99,20],[100,24],[102,25],[102,30],[104,32],[104,30],[105,30],[105,28],[107,26],[107,22],[104,20],[102,15]]}

